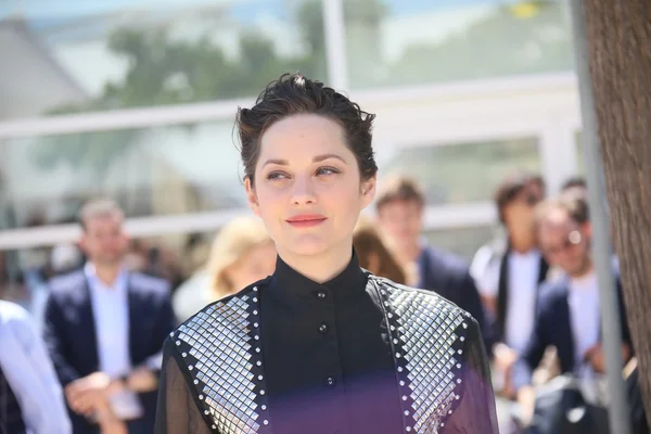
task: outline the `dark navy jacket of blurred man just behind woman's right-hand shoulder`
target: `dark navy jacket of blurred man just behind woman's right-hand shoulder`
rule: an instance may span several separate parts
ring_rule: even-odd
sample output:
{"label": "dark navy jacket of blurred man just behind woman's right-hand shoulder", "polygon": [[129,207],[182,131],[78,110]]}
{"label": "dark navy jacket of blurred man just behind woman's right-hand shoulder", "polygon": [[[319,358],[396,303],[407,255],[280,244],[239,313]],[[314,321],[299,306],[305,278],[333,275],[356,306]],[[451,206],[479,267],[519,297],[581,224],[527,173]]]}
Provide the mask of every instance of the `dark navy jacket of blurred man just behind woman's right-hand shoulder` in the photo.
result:
{"label": "dark navy jacket of blurred man just behind woman's right-hand shoulder", "polygon": [[495,342],[474,279],[463,259],[425,246],[418,258],[417,288],[434,291],[469,312],[480,324],[486,350],[490,354]]}

